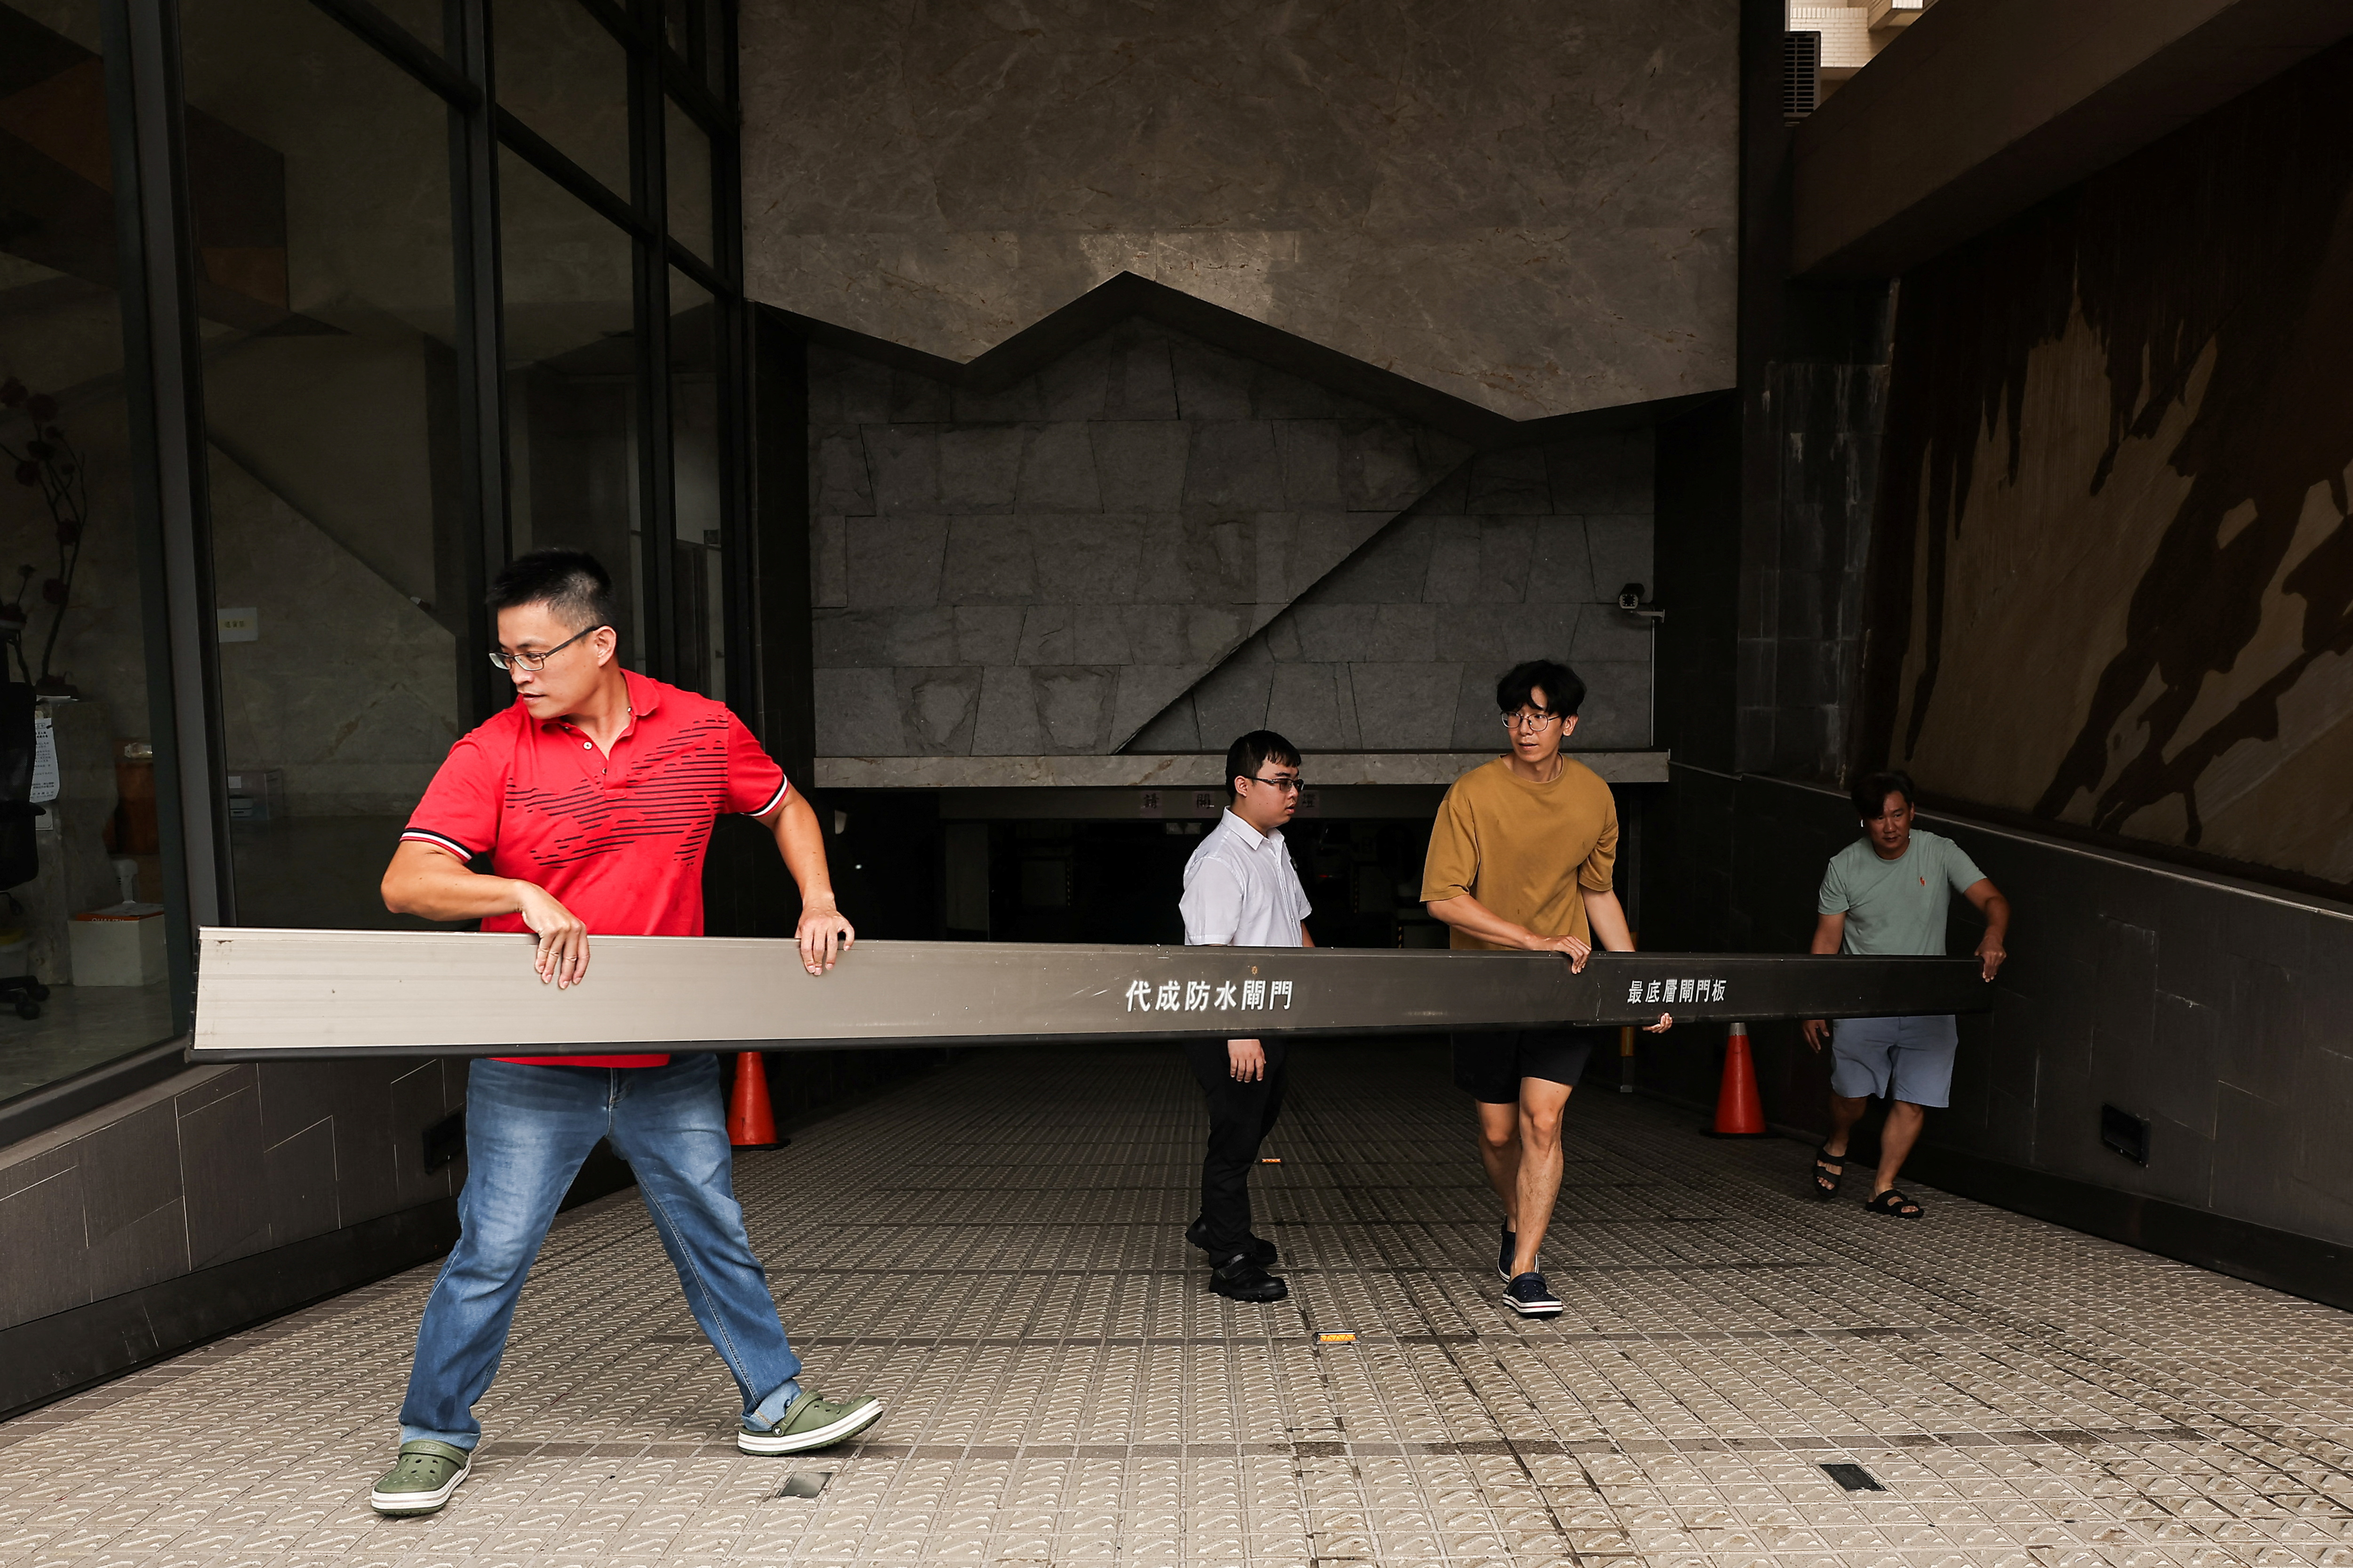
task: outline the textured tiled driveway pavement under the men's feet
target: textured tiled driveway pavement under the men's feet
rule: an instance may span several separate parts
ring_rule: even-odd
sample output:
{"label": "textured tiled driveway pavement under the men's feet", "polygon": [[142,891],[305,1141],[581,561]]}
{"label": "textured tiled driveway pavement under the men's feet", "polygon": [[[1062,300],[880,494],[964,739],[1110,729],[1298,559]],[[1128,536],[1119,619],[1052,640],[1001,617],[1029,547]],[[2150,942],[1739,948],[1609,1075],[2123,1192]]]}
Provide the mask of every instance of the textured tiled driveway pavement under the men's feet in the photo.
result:
{"label": "textured tiled driveway pavement under the men's feet", "polygon": [[974,1053],[739,1164],[871,1441],[736,1455],[619,1194],[548,1241],[442,1516],[365,1505],[421,1269],[0,1427],[0,1563],[2353,1563],[2353,1319],[1929,1190],[1819,1206],[1798,1145],[1652,1103],[1569,1117],[1569,1309],[1518,1324],[1442,1058],[1304,1051],[1259,1175],[1292,1298],[1242,1307],[1179,1237],[1174,1053]]}

